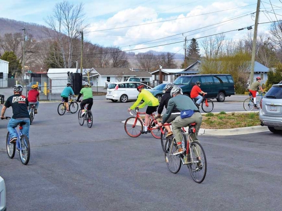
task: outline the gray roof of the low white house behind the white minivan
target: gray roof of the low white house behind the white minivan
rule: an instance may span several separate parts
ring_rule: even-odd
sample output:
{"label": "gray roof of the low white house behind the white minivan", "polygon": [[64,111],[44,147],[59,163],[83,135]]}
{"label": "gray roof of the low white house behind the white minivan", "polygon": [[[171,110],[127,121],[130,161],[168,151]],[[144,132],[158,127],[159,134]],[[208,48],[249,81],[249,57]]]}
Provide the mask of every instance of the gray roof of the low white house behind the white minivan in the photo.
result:
{"label": "gray roof of the low white house behind the white minivan", "polygon": [[152,77],[149,72],[145,71],[132,71],[129,68],[94,68],[100,76],[104,77],[117,77],[123,75],[124,77]]}

